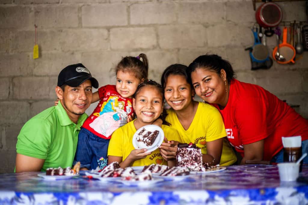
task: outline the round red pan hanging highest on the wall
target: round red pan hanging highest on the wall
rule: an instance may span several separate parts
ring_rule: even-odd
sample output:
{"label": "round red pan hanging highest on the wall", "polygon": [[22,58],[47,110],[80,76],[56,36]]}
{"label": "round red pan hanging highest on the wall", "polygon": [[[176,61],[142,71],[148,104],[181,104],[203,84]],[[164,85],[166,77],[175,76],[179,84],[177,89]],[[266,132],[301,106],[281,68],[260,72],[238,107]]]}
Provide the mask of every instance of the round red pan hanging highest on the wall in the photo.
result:
{"label": "round red pan hanging highest on the wall", "polygon": [[258,7],[255,16],[258,24],[267,28],[265,30],[265,35],[270,37],[274,34],[272,28],[278,26],[282,21],[282,10],[273,2],[265,2]]}

